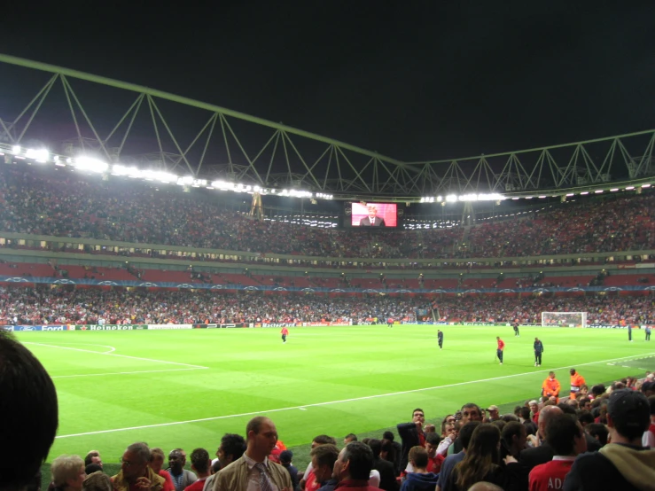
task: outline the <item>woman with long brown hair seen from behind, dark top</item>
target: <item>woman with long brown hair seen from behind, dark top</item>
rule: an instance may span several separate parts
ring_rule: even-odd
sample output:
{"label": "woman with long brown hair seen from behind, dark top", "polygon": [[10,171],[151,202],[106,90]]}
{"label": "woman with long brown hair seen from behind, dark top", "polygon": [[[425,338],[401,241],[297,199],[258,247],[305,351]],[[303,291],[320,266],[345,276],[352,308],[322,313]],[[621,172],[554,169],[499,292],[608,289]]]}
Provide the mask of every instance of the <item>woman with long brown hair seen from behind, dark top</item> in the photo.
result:
{"label": "woman with long brown hair seen from behind, dark top", "polygon": [[464,491],[476,482],[487,481],[505,491],[524,489],[521,466],[512,456],[500,460],[501,432],[496,425],[483,424],[472,434],[464,460],[456,464],[448,477],[448,489]]}

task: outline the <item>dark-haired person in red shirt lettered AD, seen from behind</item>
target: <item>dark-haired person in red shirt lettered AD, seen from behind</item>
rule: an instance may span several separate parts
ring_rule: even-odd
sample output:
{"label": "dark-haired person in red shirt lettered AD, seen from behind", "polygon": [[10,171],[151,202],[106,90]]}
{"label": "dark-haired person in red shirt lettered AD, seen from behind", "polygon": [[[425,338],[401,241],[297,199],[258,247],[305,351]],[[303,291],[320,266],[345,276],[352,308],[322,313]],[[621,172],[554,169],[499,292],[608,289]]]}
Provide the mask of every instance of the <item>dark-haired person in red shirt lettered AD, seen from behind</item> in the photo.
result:
{"label": "dark-haired person in red shirt lettered AD, seen from behind", "polygon": [[550,462],[539,464],[530,471],[530,491],[561,489],[575,456],[587,451],[585,433],[574,415],[557,414],[551,417],[547,434],[546,441],[555,456]]}

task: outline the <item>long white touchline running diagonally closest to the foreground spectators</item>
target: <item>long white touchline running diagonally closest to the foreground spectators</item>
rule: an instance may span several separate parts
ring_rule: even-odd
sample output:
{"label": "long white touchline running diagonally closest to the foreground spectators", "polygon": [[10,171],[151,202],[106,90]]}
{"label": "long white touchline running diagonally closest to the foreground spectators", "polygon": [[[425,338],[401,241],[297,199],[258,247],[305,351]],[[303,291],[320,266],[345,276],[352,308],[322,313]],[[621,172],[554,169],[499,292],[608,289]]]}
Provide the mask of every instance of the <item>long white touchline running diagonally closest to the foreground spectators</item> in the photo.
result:
{"label": "long white touchline running diagonally closest to the foreground spectators", "polygon": [[[655,354],[651,354],[655,355]],[[604,363],[604,362],[612,362],[614,360],[625,360],[626,358],[629,358],[629,356],[622,356],[620,358],[610,358],[609,360],[599,360],[597,362],[588,362],[588,363],[575,363],[576,367],[583,367],[587,365],[597,365],[598,363]],[[352,399],[340,399],[339,401],[325,401],[325,402],[315,402],[314,404],[303,404],[302,406],[290,406],[288,408],[277,408],[277,409],[265,409],[265,410],[259,410],[259,411],[250,411],[246,413],[240,413],[240,414],[229,414],[225,416],[214,416],[214,417],[202,417],[199,419],[189,419],[186,421],[173,421],[171,423],[156,423],[154,425],[142,425],[142,426],[129,426],[127,428],[114,428],[113,430],[98,430],[97,432],[85,432],[85,433],[71,433],[67,435],[58,435],[55,438],[73,438],[76,436],[86,436],[86,435],[97,435],[101,433],[117,433],[117,432],[128,432],[130,430],[143,430],[145,428],[159,428],[161,426],[174,426],[174,425],[188,425],[190,423],[203,423],[205,421],[216,421],[219,419],[229,419],[231,417],[246,417],[246,416],[259,416],[262,414],[269,414],[269,413],[277,413],[277,412],[282,412],[282,411],[288,411],[292,409],[306,409],[306,408],[317,408],[321,406],[330,406],[331,404],[340,404],[343,402],[355,402],[355,401],[366,401],[368,399],[378,399],[381,397],[390,397],[393,395],[402,395],[402,394],[412,394],[412,393],[417,393],[417,392],[426,392],[426,391],[432,391],[435,389],[443,389],[447,387],[456,387],[456,386],[468,386],[470,384],[478,384],[480,382],[493,382],[495,380],[501,380],[503,378],[514,378],[514,377],[522,377],[524,375],[534,375],[535,373],[540,373],[542,371],[552,371],[552,370],[565,370],[570,368],[570,365],[567,365],[565,367],[558,367],[558,368],[551,368],[551,369],[543,369],[543,370],[534,370],[534,371],[526,371],[524,373],[515,373],[514,375],[503,375],[502,377],[495,377],[495,378],[482,378],[480,380],[469,380],[467,382],[456,382],[455,384],[446,384],[445,386],[433,386],[433,387],[424,387],[420,389],[411,389],[407,391],[399,391],[399,392],[391,392],[391,393],[386,393],[386,394],[375,394],[375,395],[364,395],[363,397],[354,397]]]}

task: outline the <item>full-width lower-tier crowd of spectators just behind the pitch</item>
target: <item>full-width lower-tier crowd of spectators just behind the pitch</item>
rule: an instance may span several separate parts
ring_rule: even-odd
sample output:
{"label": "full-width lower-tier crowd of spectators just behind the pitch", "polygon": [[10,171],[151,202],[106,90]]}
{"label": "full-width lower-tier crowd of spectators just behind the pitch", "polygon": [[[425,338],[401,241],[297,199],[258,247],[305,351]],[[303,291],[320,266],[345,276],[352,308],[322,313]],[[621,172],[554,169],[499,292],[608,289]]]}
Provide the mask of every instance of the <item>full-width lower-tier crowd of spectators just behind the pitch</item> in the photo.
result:
{"label": "full-width lower-tier crowd of spectators just behind the pitch", "polygon": [[292,323],[437,320],[535,323],[542,312],[587,312],[587,323],[655,323],[651,296],[366,297],[126,288],[0,287],[0,323]]}

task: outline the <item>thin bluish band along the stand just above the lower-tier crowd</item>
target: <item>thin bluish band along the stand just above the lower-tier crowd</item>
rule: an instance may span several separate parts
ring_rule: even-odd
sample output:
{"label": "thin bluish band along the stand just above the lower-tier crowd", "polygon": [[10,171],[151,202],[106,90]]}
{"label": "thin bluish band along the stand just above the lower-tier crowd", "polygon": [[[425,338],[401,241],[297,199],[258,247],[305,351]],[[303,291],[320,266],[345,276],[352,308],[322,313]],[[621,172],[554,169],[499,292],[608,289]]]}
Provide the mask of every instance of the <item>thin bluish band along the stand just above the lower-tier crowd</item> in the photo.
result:
{"label": "thin bluish band along the stand just above the lower-tier crowd", "polygon": [[584,292],[655,292],[655,285],[623,285],[623,286],[574,286],[574,287],[525,287],[525,288],[326,288],[326,287],[298,287],[298,286],[272,286],[242,284],[207,284],[207,283],[177,283],[177,282],[150,282],[141,280],[97,280],[90,278],[55,278],[55,277],[11,277],[0,276],[0,283],[8,284],[83,284],[95,286],[131,286],[143,288],[175,288],[182,290],[230,290],[250,292],[324,292],[324,293],[384,293],[384,294],[428,294],[428,293],[584,293]]}

